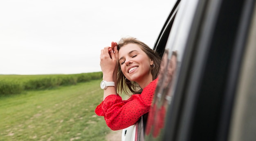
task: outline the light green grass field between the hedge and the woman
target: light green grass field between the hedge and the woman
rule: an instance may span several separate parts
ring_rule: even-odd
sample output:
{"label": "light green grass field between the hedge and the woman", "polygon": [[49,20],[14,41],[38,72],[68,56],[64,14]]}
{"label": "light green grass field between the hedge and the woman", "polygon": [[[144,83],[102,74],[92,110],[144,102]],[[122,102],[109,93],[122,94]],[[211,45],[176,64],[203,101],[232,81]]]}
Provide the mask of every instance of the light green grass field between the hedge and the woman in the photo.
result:
{"label": "light green grass field between the hedge and the woman", "polygon": [[0,97],[0,141],[104,141],[101,80]]}

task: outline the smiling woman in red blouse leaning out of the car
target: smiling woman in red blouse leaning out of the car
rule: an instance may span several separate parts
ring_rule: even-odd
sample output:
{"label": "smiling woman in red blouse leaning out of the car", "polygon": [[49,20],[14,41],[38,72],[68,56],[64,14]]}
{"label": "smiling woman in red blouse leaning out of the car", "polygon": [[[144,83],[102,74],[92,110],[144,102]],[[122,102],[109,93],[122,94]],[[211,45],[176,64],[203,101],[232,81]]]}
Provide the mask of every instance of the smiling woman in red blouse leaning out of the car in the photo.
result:
{"label": "smiling woman in red blouse leaning out of the car", "polygon": [[[136,38],[122,38],[119,43],[101,50],[103,81],[110,83],[104,89],[103,102],[95,113],[104,116],[112,130],[134,125],[141,115],[148,113],[157,84],[157,73],[161,59],[155,51]],[[122,100],[117,94],[130,95]]]}

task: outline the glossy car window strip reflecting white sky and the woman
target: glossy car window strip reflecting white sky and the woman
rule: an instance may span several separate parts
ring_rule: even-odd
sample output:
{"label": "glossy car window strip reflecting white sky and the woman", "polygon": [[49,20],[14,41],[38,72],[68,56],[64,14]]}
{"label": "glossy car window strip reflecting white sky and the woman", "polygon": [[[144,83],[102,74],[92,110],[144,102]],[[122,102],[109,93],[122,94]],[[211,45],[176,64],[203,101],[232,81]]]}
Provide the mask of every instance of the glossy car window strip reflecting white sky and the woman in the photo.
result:
{"label": "glossy car window strip reflecting white sky and the woman", "polygon": [[[182,1],[184,2],[184,1]],[[159,141],[164,139],[164,130],[166,126],[166,115],[170,111],[177,76],[180,72],[180,65],[185,51],[185,40],[189,36],[188,30],[191,26],[191,20],[195,13],[196,1],[190,4],[191,13],[188,17],[182,16],[183,10],[187,10],[188,4],[179,5],[179,10],[175,14],[175,20],[172,23],[172,30],[168,35],[166,46],[162,52],[162,64],[159,69],[159,80],[155,91],[152,106],[148,115],[147,126],[145,130],[146,141]],[[184,22],[186,21],[186,22]],[[181,24],[183,26],[181,26]],[[179,32],[177,32],[179,30]],[[163,35],[164,36],[164,35]],[[183,41],[182,41],[183,40]],[[158,50],[163,50],[159,48]],[[169,117],[168,117],[169,118]]]}

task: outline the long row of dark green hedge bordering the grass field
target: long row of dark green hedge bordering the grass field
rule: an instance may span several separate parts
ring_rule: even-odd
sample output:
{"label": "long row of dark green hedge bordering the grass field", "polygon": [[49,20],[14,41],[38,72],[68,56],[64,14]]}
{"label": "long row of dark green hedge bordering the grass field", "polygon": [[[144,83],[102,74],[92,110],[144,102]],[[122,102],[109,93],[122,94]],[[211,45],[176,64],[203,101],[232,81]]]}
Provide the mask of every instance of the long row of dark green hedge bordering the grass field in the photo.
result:
{"label": "long row of dark green hedge bordering the grass field", "polygon": [[23,80],[0,80],[0,95],[18,94],[24,90],[49,89],[64,85],[76,85],[79,82],[87,82],[102,78],[102,72],[69,74],[69,75],[45,75],[28,77]]}

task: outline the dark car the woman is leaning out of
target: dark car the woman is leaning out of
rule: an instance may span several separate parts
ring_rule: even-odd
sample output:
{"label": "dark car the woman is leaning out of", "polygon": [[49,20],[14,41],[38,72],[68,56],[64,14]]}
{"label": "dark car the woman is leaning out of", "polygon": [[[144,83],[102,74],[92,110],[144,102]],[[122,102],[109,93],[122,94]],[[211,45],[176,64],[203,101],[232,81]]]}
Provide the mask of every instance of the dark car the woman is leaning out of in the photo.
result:
{"label": "dark car the woman is leaning out of", "polygon": [[177,0],[153,49],[150,112],[122,141],[255,141],[255,0]]}

